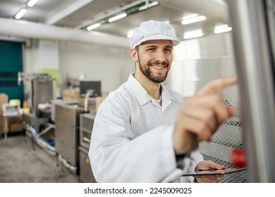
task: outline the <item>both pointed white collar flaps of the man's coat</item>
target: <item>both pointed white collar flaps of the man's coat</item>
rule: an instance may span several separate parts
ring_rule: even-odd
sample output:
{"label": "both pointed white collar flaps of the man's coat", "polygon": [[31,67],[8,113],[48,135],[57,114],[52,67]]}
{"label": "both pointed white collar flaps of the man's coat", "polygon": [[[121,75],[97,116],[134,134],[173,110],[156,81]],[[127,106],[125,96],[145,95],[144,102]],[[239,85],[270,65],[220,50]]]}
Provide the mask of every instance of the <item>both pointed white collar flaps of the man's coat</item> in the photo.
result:
{"label": "both pointed white collar flaps of the man's coat", "polygon": [[[140,106],[144,105],[145,103],[152,100],[152,97],[149,96],[146,89],[142,87],[142,84],[138,82],[137,79],[134,77],[134,73],[130,74],[128,77],[128,83],[130,84],[130,89],[135,95],[135,98],[137,99]],[[162,99],[162,106],[166,108],[166,104],[169,105],[171,101],[175,101],[175,98],[171,96],[168,89],[164,86],[164,84],[161,83],[161,99]],[[142,94],[140,94],[142,92]]]}

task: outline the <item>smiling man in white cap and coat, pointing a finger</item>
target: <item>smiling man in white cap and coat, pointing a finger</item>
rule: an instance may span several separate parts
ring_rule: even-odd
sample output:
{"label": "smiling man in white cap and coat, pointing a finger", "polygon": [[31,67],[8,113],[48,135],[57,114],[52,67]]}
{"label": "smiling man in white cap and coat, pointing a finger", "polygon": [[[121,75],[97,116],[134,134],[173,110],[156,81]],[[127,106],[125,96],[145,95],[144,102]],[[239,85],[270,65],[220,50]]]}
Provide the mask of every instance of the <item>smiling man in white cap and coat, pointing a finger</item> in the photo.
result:
{"label": "smiling man in white cap and coat, pointing a finger", "polygon": [[192,182],[181,177],[183,170],[224,169],[204,161],[197,144],[233,115],[217,91],[236,77],[209,82],[183,103],[161,83],[177,44],[169,24],[149,20],[135,28],[135,73],[102,102],[94,120],[89,157],[97,182]]}

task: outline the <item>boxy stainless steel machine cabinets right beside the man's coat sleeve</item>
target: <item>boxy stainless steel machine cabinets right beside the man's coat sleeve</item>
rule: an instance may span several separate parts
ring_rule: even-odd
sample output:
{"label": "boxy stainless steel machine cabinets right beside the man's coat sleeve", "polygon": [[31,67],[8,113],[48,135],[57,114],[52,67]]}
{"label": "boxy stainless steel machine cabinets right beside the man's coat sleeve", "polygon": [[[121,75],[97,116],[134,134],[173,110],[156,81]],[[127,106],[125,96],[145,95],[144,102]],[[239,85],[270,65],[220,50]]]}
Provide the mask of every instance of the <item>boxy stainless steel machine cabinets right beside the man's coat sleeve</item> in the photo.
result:
{"label": "boxy stainless steel machine cabinets right beside the man's coat sleeve", "polygon": [[87,113],[80,103],[54,103],[55,148],[66,167],[79,176],[81,182],[95,182],[88,157],[95,113]]}

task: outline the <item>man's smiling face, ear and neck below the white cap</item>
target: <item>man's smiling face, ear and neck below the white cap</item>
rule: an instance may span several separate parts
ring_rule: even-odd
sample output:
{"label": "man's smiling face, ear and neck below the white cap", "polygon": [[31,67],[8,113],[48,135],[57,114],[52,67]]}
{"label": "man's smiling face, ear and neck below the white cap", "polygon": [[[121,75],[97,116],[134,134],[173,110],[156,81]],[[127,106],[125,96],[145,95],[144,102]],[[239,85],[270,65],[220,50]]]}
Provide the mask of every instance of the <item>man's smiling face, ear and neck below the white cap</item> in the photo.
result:
{"label": "man's smiling face, ear and neck below the white cap", "polygon": [[148,40],[130,50],[136,62],[135,78],[153,98],[161,96],[161,82],[166,80],[173,61],[170,40]]}

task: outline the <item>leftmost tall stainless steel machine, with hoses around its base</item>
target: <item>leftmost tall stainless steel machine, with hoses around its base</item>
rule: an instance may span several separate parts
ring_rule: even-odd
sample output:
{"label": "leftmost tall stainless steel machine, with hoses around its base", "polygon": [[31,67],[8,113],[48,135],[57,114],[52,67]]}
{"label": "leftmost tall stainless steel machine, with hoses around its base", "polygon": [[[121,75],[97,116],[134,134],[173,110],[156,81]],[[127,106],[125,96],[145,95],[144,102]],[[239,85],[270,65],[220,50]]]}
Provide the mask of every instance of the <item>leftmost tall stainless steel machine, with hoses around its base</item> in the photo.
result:
{"label": "leftmost tall stainless steel machine, with hoses around its base", "polygon": [[50,120],[50,108],[39,108],[39,105],[47,106],[56,97],[56,81],[49,74],[18,72],[18,83],[23,82],[24,101],[23,107],[30,108],[30,113],[23,113],[24,128],[34,142],[43,146],[47,151],[55,154],[54,125]]}

